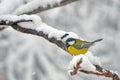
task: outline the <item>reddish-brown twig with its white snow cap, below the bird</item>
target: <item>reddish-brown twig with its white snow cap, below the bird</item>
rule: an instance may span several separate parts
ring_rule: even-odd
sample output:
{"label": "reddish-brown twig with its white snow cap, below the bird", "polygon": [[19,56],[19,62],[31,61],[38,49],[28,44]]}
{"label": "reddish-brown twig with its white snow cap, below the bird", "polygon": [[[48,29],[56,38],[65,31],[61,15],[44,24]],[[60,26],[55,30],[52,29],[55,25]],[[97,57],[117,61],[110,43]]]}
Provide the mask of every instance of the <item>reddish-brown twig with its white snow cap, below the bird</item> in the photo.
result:
{"label": "reddish-brown twig with its white snow cap, below the bird", "polygon": [[77,75],[78,72],[85,74],[94,74],[98,76],[110,77],[113,80],[120,80],[119,76],[113,71],[102,68],[100,65],[90,62],[86,55],[73,57],[69,65],[70,75]]}

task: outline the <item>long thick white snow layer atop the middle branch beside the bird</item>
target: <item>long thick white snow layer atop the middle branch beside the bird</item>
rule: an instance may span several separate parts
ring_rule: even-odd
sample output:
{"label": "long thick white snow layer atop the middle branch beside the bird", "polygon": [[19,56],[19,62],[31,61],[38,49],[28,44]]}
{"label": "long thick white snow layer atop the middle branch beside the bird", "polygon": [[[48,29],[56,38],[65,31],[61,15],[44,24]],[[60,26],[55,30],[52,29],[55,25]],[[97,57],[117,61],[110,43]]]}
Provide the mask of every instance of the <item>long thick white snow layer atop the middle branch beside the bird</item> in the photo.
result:
{"label": "long thick white snow layer atop the middle branch beside the bird", "polygon": [[[31,29],[35,29],[38,32],[42,31],[44,34],[48,35],[48,38],[56,38],[57,40],[61,40],[63,41],[63,43],[65,43],[65,41],[72,37],[72,38],[79,38],[77,34],[75,34],[74,32],[65,32],[62,30],[58,30],[55,29],[47,24],[45,24],[44,22],[42,22],[41,18],[37,15],[1,15],[0,16],[0,21],[6,21],[6,23],[9,23],[9,21],[12,22],[16,22],[18,20],[32,20],[32,23],[30,22],[22,22],[19,23],[22,27],[25,28],[31,28]],[[61,37],[65,34],[68,34],[66,37],[64,37],[63,39],[61,39]]]}

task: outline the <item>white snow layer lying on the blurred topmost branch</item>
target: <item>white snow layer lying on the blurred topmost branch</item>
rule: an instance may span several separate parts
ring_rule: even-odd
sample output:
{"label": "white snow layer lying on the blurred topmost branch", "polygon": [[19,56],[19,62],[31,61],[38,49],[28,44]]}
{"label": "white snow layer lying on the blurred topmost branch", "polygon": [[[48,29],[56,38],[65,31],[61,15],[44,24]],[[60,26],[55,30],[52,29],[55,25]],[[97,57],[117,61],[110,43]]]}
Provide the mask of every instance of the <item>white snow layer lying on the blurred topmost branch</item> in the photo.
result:
{"label": "white snow layer lying on the blurred topmost branch", "polygon": [[33,0],[21,7],[19,7],[13,14],[23,14],[33,11],[39,7],[46,8],[48,5],[52,7],[54,4],[59,4],[62,0]]}

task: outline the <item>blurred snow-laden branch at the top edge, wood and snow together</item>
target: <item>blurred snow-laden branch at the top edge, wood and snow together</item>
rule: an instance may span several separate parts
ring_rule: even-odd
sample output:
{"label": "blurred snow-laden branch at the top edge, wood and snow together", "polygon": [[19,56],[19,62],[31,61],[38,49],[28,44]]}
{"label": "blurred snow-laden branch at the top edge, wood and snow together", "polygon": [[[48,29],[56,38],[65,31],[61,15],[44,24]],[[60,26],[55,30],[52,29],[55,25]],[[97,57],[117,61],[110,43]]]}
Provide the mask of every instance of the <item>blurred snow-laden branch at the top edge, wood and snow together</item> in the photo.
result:
{"label": "blurred snow-laden branch at the top edge, wood and snow together", "polygon": [[45,10],[61,7],[78,0],[33,0],[20,6],[13,14],[36,14]]}

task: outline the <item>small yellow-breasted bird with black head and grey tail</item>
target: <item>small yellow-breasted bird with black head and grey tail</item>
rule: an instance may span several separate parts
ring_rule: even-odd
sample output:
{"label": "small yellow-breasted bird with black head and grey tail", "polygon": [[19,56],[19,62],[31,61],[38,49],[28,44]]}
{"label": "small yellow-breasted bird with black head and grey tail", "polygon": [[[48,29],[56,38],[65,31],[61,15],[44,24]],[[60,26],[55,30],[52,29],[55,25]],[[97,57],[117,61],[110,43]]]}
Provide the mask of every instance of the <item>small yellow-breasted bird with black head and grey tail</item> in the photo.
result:
{"label": "small yellow-breasted bird with black head and grey tail", "polygon": [[84,41],[78,38],[68,38],[66,40],[66,50],[69,54],[72,56],[80,55],[80,54],[86,54],[88,49],[95,44],[96,42],[99,42],[103,40],[97,39],[92,42]]}

